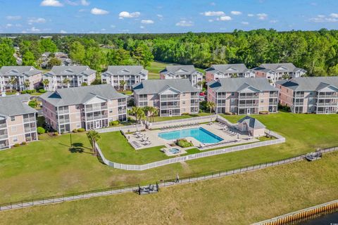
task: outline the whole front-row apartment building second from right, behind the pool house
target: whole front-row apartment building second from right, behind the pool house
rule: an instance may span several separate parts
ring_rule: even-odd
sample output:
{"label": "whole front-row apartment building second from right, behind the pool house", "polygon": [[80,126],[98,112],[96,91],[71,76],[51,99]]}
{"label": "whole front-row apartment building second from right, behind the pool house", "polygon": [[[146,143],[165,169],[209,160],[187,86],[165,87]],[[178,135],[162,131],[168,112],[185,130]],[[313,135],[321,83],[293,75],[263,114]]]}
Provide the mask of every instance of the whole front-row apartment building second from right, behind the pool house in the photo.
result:
{"label": "whole front-row apartment building second from right, behind the pool house", "polygon": [[215,103],[216,113],[277,113],[278,89],[263,77],[220,78],[207,85],[208,101]]}

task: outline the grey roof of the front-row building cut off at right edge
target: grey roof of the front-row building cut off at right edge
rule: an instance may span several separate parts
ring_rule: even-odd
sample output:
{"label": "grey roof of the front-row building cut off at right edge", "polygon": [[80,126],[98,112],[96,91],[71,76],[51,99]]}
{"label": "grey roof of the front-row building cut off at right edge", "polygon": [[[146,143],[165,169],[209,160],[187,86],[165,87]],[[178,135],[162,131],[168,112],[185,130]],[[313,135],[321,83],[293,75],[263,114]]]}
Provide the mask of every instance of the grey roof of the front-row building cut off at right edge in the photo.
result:
{"label": "grey roof of the front-row building cut off at right edge", "polygon": [[276,84],[294,91],[319,91],[327,86],[338,89],[338,77],[295,77],[289,81],[277,81]]}

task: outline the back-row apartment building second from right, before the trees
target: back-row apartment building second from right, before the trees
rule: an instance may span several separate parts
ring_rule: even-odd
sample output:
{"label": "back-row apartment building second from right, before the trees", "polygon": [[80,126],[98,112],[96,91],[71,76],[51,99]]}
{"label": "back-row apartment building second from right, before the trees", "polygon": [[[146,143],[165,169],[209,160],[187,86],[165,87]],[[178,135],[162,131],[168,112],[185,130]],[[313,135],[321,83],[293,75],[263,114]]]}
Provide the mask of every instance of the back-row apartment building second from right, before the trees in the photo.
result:
{"label": "back-row apartment building second from right, before the trees", "polygon": [[243,63],[211,65],[206,69],[206,82],[230,77],[255,77],[255,72],[246,68]]}

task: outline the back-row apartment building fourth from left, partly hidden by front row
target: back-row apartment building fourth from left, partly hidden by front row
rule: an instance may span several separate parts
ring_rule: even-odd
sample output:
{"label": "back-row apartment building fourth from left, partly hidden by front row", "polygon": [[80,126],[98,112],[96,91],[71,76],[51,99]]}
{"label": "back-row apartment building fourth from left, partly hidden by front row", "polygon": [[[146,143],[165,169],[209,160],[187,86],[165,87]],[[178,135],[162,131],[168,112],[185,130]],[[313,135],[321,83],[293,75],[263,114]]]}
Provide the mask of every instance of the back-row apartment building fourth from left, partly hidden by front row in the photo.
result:
{"label": "back-row apartment building fourth from left, partly hidden by front row", "polygon": [[189,79],[192,86],[202,89],[203,73],[194,65],[167,65],[160,71],[160,79]]}

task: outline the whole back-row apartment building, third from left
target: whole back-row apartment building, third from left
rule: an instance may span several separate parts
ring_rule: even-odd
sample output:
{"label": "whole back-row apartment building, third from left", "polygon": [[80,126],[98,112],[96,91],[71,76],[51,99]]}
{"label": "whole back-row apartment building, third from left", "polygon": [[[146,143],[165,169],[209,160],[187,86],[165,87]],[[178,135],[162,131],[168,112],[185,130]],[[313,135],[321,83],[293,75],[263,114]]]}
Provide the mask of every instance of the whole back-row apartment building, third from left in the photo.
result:
{"label": "whole back-row apartment building, third from left", "polygon": [[123,90],[131,90],[132,85],[145,79],[148,79],[148,70],[141,65],[110,65],[101,74],[102,84],[111,84],[115,89]]}

